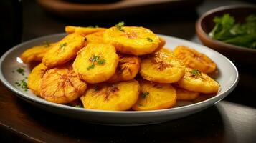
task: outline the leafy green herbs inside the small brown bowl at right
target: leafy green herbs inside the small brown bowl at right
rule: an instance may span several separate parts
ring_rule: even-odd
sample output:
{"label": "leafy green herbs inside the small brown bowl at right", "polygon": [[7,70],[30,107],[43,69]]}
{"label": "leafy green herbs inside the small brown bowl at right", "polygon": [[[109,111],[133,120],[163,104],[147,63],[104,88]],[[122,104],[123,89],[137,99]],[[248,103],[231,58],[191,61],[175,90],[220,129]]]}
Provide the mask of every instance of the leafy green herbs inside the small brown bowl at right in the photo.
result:
{"label": "leafy green herbs inside the small brown bowl at right", "polygon": [[228,44],[256,49],[256,15],[251,14],[245,22],[236,22],[233,16],[224,14],[214,17],[215,26],[209,33],[212,39]]}

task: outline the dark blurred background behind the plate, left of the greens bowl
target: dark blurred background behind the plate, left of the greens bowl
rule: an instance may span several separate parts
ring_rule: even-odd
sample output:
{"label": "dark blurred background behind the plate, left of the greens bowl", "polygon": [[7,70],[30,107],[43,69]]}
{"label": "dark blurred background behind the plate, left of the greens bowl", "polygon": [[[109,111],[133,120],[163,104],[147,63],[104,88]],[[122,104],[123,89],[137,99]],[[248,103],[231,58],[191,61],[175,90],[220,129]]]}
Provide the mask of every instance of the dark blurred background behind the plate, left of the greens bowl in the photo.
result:
{"label": "dark blurred background behind the plate, left of the greens bowl", "polygon": [[194,24],[218,6],[253,0],[1,0],[1,54],[21,41],[64,32],[67,25],[110,27],[119,21],[199,42]]}

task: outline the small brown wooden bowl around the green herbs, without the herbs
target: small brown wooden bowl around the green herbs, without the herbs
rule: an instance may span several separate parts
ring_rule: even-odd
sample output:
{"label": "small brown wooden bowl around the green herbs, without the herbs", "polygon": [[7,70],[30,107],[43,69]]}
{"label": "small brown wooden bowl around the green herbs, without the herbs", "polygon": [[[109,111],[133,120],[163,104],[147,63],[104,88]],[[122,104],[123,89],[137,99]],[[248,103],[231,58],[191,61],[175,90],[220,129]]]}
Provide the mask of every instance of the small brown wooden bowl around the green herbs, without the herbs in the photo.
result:
{"label": "small brown wooden bowl around the green herbs, without the herbs", "polygon": [[214,16],[223,16],[223,14],[230,14],[231,16],[234,16],[236,22],[243,22],[245,21],[245,17],[248,15],[256,14],[256,6],[222,6],[217,9],[207,11],[196,21],[197,36],[205,46],[219,51],[231,59],[234,63],[256,65],[256,49],[249,49],[242,46],[227,44],[209,37],[208,34],[210,31],[212,31],[215,25],[213,21]]}

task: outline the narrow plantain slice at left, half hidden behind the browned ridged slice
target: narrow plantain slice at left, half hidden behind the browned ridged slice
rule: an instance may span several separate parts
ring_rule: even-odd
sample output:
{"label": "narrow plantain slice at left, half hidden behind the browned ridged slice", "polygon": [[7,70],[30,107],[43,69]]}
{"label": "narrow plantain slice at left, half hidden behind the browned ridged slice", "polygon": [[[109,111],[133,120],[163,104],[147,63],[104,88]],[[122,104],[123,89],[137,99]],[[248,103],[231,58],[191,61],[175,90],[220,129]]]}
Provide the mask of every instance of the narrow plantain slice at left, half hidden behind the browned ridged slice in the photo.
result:
{"label": "narrow plantain slice at left, half hidden behind the browned ridged slice", "polygon": [[44,66],[44,64],[40,63],[32,69],[31,73],[28,77],[27,87],[34,92],[37,96],[40,96],[40,84],[42,82],[42,77],[44,76],[45,72],[49,68]]}

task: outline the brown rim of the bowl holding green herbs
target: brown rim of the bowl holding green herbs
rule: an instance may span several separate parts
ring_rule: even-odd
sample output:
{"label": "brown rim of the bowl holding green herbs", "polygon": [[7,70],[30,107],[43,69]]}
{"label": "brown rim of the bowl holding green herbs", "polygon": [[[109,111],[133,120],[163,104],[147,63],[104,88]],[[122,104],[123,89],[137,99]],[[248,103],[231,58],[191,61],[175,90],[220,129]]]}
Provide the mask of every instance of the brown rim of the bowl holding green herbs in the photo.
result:
{"label": "brown rim of the bowl holding green herbs", "polygon": [[241,9],[241,8],[254,8],[254,9],[256,9],[256,6],[243,4],[243,5],[220,6],[220,7],[217,7],[215,9],[211,9],[211,10],[207,11],[206,13],[204,13],[202,16],[200,16],[199,19],[196,21],[196,31],[201,33],[207,39],[207,41],[210,41],[210,42],[215,43],[217,45],[222,45],[222,46],[224,46],[228,49],[234,49],[234,50],[237,50],[237,51],[249,51],[249,52],[252,52],[252,53],[256,54],[256,49],[250,49],[250,48],[243,47],[243,46],[236,46],[236,45],[233,45],[233,44],[227,44],[227,43],[224,43],[223,41],[212,39],[202,29],[202,20],[206,16],[208,16],[209,14],[213,14],[217,11],[224,11],[224,10],[227,10],[227,9]]}

